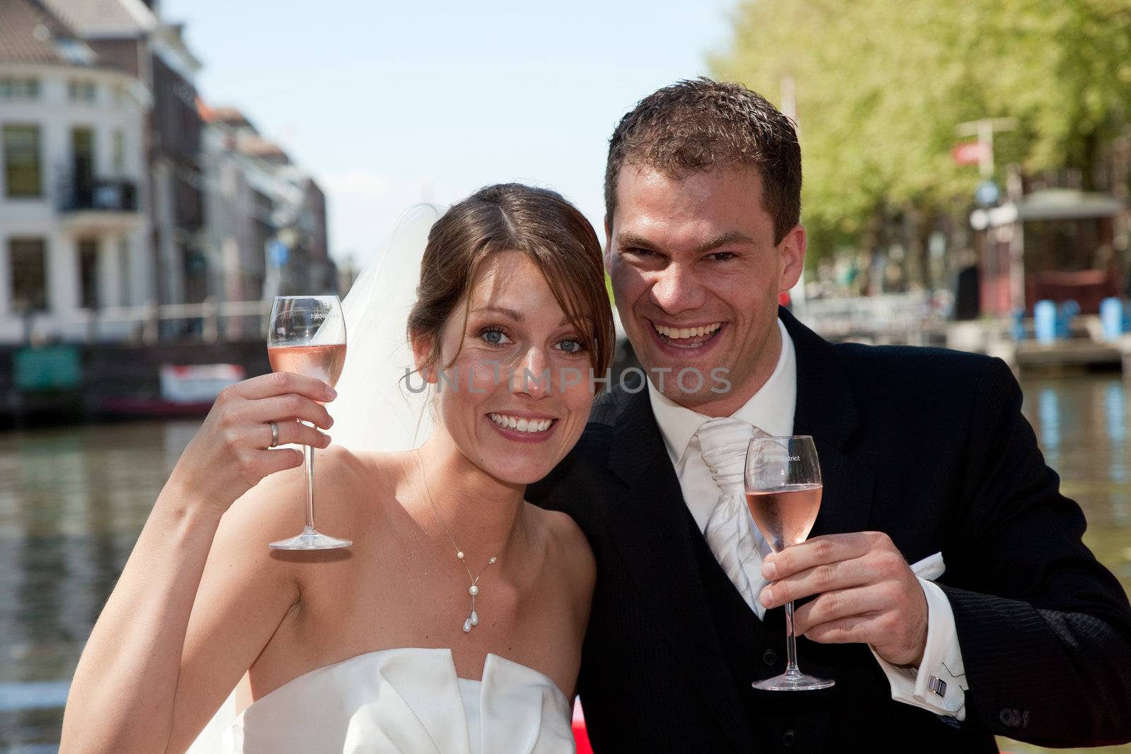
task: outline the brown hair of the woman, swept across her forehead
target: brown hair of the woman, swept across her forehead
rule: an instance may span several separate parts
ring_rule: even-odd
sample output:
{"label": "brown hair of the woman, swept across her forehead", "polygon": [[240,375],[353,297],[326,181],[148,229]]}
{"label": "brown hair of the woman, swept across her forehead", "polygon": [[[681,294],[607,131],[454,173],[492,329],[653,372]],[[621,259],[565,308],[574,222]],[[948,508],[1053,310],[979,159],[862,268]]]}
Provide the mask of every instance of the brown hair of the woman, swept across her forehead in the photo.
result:
{"label": "brown hair of the woman, swept across her forehead", "polygon": [[480,189],[454,205],[429,232],[416,304],[408,315],[409,339],[428,337],[432,343],[417,371],[435,373],[444,324],[461,300],[466,318],[467,294],[484,262],[504,251],[526,254],[542,270],[577,328],[594,373],[604,376],[612,366],[616,336],[597,234],[561,194],[520,183]]}

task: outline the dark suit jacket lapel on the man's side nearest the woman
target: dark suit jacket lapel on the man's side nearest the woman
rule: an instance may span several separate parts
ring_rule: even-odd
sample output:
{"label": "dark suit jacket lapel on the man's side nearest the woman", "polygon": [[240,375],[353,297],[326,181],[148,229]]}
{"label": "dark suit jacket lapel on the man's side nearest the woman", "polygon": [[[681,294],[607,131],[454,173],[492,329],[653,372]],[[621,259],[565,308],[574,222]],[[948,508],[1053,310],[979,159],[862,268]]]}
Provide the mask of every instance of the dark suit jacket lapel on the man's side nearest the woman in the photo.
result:
{"label": "dark suit jacket lapel on the man's side nearest the woman", "polygon": [[736,748],[751,751],[752,733],[703,593],[680,482],[647,390],[624,398],[608,467],[625,484],[608,519],[624,569],[718,723]]}

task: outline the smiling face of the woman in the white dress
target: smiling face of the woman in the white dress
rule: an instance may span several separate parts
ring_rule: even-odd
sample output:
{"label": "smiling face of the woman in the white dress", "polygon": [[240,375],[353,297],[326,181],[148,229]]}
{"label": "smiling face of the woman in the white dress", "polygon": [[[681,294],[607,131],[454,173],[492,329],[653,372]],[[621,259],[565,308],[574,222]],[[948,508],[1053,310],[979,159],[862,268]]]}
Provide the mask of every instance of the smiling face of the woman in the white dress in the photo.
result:
{"label": "smiling face of the woman in the white dress", "polygon": [[[530,258],[486,260],[441,336],[440,423],[473,463],[508,483],[544,477],[581,436],[590,354]],[[463,327],[460,327],[463,326]],[[588,324],[592,327],[592,324]]]}

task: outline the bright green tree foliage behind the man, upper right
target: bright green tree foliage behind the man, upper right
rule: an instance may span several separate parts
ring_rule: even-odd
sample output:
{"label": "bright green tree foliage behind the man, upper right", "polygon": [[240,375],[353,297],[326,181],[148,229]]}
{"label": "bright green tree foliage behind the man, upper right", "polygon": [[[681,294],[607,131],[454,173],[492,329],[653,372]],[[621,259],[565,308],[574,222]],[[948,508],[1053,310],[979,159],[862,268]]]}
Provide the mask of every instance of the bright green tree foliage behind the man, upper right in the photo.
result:
{"label": "bright green tree foliage behind the man, upper right", "polygon": [[995,164],[1089,177],[1126,129],[1131,0],[744,0],[713,73],[780,105],[791,78],[815,255],[860,242],[877,213],[946,211],[977,167],[956,127],[1012,116]]}

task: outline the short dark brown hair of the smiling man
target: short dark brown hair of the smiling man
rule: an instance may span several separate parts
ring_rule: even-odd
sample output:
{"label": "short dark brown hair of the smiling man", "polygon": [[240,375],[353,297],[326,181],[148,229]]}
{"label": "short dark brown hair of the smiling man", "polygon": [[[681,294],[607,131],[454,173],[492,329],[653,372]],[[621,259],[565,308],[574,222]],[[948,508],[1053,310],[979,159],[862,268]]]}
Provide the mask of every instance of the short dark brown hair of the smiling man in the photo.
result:
{"label": "short dark brown hair of the smiling man", "polygon": [[621,119],[608,140],[605,166],[610,227],[624,165],[651,167],[674,179],[692,171],[749,165],[762,179],[774,242],[801,219],[801,146],[794,122],[741,84],[709,78],[679,81],[648,95]]}

